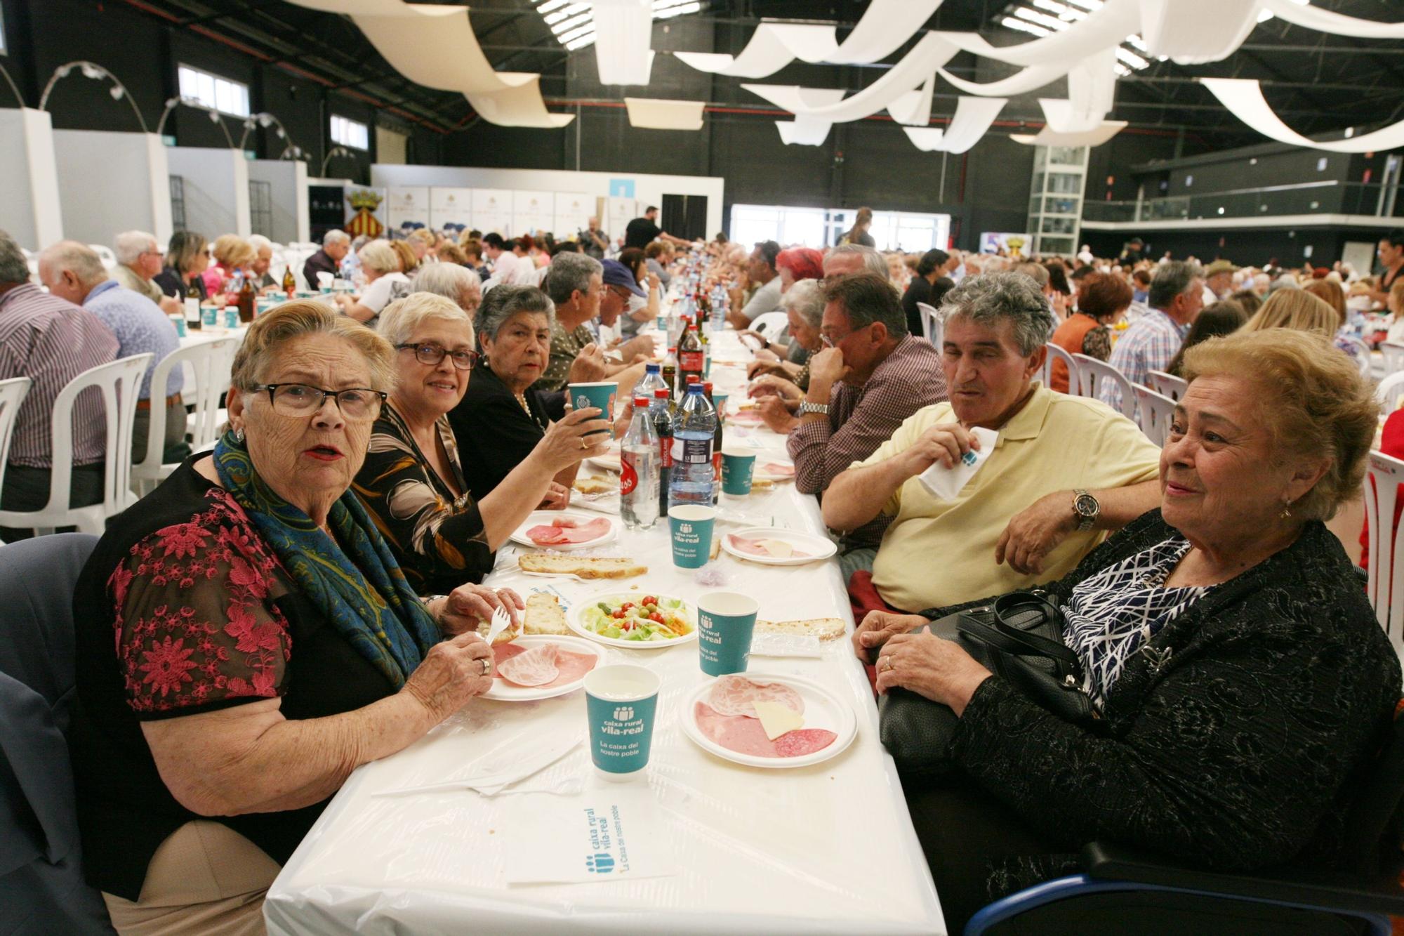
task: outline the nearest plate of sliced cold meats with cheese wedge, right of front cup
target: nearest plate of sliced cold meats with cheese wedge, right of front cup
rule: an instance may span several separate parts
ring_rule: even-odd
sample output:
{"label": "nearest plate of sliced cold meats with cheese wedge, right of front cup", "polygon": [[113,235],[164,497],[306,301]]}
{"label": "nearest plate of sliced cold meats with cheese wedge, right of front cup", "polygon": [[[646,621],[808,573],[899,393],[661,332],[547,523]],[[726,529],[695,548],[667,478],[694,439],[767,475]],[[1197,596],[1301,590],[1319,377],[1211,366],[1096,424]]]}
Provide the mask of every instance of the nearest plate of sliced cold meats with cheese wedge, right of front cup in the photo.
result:
{"label": "nearest plate of sliced cold meats with cheese wedge, right of front cup", "polygon": [[809,679],[733,673],[703,683],[680,713],[682,732],[717,758],[750,767],[807,767],[844,752],[858,718]]}

